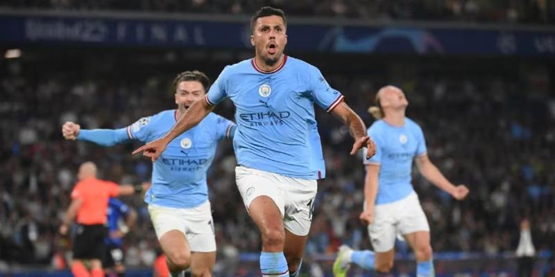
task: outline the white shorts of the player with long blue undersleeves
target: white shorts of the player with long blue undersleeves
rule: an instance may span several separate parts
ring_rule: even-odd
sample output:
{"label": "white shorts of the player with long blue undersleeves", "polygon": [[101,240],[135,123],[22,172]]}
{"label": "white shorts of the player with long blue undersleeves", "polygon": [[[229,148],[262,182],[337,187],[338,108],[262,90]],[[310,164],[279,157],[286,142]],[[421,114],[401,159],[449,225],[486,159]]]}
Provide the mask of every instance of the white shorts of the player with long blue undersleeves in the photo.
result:
{"label": "white shorts of the player with long blue undersleeves", "polygon": [[210,201],[194,208],[169,208],[150,204],[148,213],[151,214],[158,240],[165,233],[178,230],[185,234],[191,252],[216,251]]}

